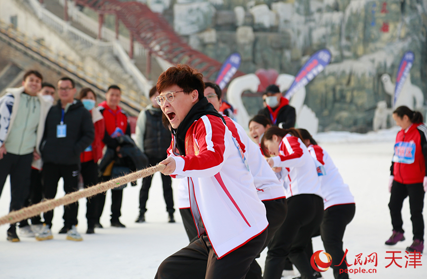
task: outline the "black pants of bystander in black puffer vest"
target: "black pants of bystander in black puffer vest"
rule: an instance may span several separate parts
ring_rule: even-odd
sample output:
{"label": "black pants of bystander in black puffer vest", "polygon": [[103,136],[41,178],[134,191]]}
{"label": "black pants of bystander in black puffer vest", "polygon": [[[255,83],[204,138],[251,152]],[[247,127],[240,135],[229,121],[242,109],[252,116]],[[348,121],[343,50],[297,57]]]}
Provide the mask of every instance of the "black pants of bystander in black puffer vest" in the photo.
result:
{"label": "black pants of bystander in black puffer vest", "polygon": [[[159,157],[148,157],[149,164],[152,166],[157,165],[159,162],[163,161],[165,158]],[[163,182],[163,197],[166,203],[166,211],[169,213],[174,213],[175,209],[173,208],[173,195],[172,195],[172,180],[168,175],[162,175]],[[153,176],[147,176],[142,179],[142,186],[139,192],[139,212],[145,213],[147,208],[145,207],[148,200],[148,190],[151,186],[151,180]]]}

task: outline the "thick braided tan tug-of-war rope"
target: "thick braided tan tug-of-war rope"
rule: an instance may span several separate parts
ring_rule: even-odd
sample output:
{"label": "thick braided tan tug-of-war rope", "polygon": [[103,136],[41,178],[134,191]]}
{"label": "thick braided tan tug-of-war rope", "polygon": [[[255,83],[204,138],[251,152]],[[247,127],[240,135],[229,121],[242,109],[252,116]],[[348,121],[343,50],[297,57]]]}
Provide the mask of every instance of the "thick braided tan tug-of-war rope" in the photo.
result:
{"label": "thick braided tan tug-of-war rope", "polygon": [[108,189],[112,189],[121,185],[128,184],[129,182],[135,181],[138,178],[144,178],[144,177],[153,175],[158,171],[162,171],[164,168],[165,168],[165,165],[159,164],[157,166],[136,171],[131,174],[128,174],[104,183],[99,183],[95,186],[91,186],[84,190],[68,193],[59,199],[46,200],[17,211],[12,211],[8,215],[0,217],[0,226],[7,223],[16,223],[24,219],[28,219],[30,217],[39,215],[41,212],[51,211],[55,207],[71,204],[81,198],[91,197],[96,194],[105,192]]}

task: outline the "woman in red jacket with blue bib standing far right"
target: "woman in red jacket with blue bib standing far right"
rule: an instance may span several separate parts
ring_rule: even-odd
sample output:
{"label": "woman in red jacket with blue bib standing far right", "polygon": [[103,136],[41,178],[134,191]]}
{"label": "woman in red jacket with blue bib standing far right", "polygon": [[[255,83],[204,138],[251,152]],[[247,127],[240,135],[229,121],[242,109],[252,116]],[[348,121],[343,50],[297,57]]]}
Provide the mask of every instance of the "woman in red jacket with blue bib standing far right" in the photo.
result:
{"label": "woman in red jacket with blue bib standing far right", "polygon": [[390,215],[393,234],[386,245],[395,245],[405,240],[403,236],[402,204],[409,196],[411,209],[413,243],[407,251],[424,250],[424,194],[427,191],[427,128],[423,124],[423,115],[406,106],[400,106],[393,112],[393,119],[402,129],[397,133],[394,145],[391,176],[389,182]]}

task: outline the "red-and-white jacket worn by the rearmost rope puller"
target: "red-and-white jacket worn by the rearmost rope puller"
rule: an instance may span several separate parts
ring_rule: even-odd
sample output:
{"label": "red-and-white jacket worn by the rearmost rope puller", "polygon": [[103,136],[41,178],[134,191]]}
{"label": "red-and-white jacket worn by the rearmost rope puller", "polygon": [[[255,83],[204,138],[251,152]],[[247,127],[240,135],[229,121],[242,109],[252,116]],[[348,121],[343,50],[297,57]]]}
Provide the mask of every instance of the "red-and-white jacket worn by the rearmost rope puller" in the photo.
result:
{"label": "red-and-white jacket worn by the rearmost rope puller", "polygon": [[350,187],[344,183],[329,154],[318,145],[307,149],[325,167],[326,175],[320,177],[325,210],[334,205],[355,203]]}

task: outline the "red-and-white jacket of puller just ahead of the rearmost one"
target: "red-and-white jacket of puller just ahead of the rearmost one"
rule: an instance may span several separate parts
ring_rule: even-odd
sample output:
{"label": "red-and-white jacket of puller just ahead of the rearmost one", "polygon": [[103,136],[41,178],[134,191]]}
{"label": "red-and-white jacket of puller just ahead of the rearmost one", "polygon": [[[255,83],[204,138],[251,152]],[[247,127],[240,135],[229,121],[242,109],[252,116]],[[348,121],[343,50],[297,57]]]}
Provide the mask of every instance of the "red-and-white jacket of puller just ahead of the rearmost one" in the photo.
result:
{"label": "red-and-white jacket of puller just ahead of the rearmost one", "polygon": [[[302,141],[287,134],[279,146],[279,156],[272,157],[274,167],[286,168],[286,197],[299,194],[315,194],[322,197],[316,164]],[[285,170],[283,170],[286,172]]]}

